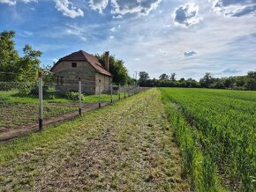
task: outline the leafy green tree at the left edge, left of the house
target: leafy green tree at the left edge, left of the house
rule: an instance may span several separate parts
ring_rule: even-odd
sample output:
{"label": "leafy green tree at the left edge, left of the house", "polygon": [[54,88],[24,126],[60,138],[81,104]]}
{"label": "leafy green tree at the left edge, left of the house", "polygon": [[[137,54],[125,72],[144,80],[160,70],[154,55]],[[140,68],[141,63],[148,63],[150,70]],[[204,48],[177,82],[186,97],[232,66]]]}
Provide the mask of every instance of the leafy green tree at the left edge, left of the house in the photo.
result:
{"label": "leafy green tree at the left edge, left of the house", "polygon": [[34,82],[39,70],[41,51],[31,46],[23,48],[24,56],[20,57],[14,48],[12,38],[15,32],[4,31],[0,34],[0,81],[2,82]]}

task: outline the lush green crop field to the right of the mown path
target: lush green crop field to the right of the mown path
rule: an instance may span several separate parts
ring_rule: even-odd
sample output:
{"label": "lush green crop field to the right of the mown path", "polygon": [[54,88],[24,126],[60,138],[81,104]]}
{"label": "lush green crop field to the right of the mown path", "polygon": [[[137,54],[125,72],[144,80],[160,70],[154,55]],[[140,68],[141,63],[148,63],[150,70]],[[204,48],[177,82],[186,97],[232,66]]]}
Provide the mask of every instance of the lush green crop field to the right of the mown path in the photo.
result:
{"label": "lush green crop field to the right of the mown path", "polygon": [[196,191],[256,190],[256,92],[161,88]]}

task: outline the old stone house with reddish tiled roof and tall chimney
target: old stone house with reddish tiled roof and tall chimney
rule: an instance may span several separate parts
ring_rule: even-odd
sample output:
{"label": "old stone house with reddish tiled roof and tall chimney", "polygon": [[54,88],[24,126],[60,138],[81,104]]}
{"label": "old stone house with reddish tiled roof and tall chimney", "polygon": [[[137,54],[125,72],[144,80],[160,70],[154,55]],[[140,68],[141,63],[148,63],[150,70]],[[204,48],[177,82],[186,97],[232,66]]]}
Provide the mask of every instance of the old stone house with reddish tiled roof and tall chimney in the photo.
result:
{"label": "old stone house with reddish tiled roof and tall chimney", "polygon": [[98,93],[100,82],[102,92],[109,92],[113,79],[109,72],[109,52],[105,53],[102,65],[94,55],[79,50],[59,59],[50,71],[55,74],[58,92],[78,92],[79,79],[86,94]]}

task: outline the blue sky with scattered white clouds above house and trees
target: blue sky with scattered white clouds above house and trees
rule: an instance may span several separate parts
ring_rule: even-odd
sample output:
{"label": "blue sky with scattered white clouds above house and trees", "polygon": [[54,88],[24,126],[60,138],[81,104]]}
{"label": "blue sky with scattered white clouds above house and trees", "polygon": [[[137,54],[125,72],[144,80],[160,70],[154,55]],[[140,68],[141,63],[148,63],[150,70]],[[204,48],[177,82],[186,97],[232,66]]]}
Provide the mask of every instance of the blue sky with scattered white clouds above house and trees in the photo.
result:
{"label": "blue sky with scattered white clouds above house and trees", "polygon": [[41,63],[83,49],[106,50],[130,75],[177,78],[256,70],[256,0],[0,0],[0,31],[16,48],[42,51]]}

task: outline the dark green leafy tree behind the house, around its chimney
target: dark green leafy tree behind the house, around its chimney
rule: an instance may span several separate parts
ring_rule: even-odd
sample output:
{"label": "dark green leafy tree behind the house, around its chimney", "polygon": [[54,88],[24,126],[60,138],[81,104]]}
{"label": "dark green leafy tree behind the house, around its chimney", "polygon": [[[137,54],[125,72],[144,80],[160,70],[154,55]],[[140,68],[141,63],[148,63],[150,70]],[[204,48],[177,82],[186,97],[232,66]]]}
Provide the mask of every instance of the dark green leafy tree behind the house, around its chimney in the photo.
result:
{"label": "dark green leafy tree behind the house, around its chimney", "polygon": [[[105,64],[105,54],[94,55],[100,63],[104,66]],[[128,70],[124,66],[124,61],[122,59],[115,58],[115,55],[109,55],[109,72],[114,76],[113,82],[121,85],[128,83],[129,75]]]}

